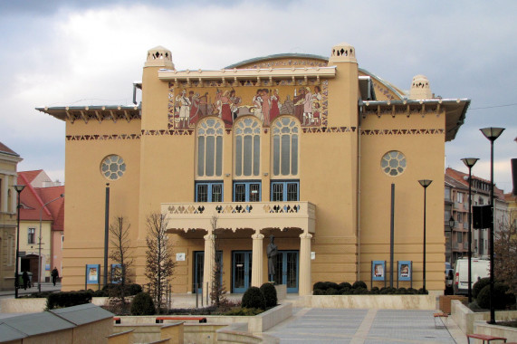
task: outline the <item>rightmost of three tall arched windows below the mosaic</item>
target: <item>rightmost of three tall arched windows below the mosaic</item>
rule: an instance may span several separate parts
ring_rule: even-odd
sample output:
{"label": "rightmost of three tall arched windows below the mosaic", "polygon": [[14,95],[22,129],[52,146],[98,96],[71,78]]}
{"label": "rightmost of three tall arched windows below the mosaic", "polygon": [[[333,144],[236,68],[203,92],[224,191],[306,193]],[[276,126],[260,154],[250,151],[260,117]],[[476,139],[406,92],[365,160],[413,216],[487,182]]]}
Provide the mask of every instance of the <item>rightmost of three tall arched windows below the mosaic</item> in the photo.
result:
{"label": "rightmost of three tall arched windows below the mosaic", "polygon": [[297,176],[299,132],[296,120],[281,117],[273,126],[273,176]]}

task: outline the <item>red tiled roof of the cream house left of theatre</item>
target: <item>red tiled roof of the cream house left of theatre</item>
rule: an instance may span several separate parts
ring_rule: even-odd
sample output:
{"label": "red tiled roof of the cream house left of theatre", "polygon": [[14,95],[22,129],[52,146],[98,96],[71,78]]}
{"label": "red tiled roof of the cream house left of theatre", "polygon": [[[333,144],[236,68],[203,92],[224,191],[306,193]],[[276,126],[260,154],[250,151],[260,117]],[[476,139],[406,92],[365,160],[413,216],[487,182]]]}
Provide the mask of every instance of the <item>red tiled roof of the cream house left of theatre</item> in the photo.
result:
{"label": "red tiled roof of the cream house left of theatre", "polygon": [[[27,175],[30,177],[31,173],[18,173],[18,184],[25,186],[20,193],[20,203],[22,204],[20,220],[39,221],[40,216],[42,216],[43,221],[53,221],[53,230],[62,231],[64,227],[64,198],[60,196],[64,194],[64,186],[33,187],[27,180]],[[56,198],[57,200],[53,201]],[[53,202],[43,208],[43,205],[50,201]]]}

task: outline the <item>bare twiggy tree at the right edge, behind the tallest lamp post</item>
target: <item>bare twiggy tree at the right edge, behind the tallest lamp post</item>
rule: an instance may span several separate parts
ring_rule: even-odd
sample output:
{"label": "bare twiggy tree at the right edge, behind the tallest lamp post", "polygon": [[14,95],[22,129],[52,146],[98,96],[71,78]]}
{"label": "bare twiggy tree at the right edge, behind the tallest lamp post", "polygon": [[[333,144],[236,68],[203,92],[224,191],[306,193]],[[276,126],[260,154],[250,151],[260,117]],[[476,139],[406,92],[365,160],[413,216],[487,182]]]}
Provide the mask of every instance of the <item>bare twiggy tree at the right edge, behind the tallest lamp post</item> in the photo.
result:
{"label": "bare twiggy tree at the right edge, behind the tallest lamp post", "polygon": [[493,241],[493,270],[498,280],[507,283],[517,294],[517,225],[502,221],[498,224]]}

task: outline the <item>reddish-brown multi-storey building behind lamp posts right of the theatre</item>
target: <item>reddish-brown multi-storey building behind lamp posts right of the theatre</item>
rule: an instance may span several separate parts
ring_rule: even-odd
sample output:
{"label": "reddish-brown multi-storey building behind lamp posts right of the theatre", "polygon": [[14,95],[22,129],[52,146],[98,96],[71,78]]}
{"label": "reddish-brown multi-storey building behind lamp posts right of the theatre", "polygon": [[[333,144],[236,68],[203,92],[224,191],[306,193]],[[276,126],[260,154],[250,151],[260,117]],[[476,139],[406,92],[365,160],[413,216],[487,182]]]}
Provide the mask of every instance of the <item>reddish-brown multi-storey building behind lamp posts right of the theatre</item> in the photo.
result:
{"label": "reddish-brown multi-storey building behind lamp posts right of the theatre", "polygon": [[[494,187],[495,224],[504,221],[508,216],[507,203],[503,197],[503,190]],[[472,176],[472,205],[490,205],[490,180]],[[455,226],[452,232],[453,256],[456,259],[468,256],[468,173],[457,171],[451,167],[445,170],[445,235],[446,261],[450,261],[450,231],[448,220],[453,216]],[[497,226],[496,226],[497,230]],[[472,253],[474,257],[487,257],[490,254],[488,247],[488,229],[473,229]],[[450,234],[450,232],[449,232]]]}

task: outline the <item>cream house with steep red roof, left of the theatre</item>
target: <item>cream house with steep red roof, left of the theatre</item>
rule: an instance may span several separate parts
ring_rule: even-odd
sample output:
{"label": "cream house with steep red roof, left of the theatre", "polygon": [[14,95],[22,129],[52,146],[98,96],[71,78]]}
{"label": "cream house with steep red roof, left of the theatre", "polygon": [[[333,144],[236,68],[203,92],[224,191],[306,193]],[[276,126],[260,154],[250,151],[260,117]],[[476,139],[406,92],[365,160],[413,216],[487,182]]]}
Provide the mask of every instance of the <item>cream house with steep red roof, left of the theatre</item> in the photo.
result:
{"label": "cream house with steep red roof, left of the theatre", "polygon": [[[33,272],[33,282],[49,282],[54,266],[62,276],[64,198],[61,195],[64,194],[64,186],[34,187],[53,185],[47,179],[50,180],[43,170],[18,172],[18,184],[25,186],[21,194],[20,252],[24,255],[20,271]],[[38,262],[41,263],[41,280],[38,278]]]}

